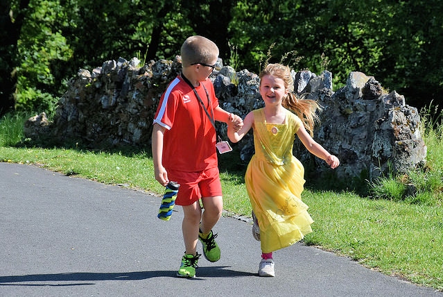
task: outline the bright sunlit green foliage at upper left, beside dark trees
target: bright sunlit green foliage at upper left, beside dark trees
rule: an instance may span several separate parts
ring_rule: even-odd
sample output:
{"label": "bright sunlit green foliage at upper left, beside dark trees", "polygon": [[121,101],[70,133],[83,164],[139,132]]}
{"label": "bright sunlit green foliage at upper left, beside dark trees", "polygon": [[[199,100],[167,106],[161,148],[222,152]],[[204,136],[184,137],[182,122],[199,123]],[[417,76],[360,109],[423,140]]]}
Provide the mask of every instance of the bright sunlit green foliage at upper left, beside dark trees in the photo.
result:
{"label": "bright sunlit green foliage at upper left, beside dark trees", "polygon": [[59,63],[72,58],[72,50],[62,35],[69,26],[66,11],[59,1],[31,1],[26,8],[26,22],[17,42],[19,62],[16,65],[19,92],[16,107],[49,110],[59,93],[56,76]]}

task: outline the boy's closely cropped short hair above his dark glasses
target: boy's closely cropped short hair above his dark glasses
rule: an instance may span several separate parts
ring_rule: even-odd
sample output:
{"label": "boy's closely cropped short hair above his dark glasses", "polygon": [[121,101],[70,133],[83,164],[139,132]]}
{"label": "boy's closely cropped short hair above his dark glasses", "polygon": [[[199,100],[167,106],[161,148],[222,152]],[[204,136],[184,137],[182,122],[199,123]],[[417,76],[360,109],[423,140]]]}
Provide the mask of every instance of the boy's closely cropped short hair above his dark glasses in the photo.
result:
{"label": "boy's closely cropped short hair above his dark glasses", "polygon": [[194,35],[186,38],[180,49],[180,55],[183,67],[193,63],[209,64],[218,57],[218,47],[206,37]]}

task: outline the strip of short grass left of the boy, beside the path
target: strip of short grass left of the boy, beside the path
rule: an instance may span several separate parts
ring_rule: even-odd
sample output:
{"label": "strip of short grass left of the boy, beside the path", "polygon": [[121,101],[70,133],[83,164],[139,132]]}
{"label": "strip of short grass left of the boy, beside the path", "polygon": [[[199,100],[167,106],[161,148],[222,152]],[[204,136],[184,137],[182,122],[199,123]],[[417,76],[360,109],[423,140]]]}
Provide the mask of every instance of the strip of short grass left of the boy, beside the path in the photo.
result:
{"label": "strip of short grass left of the boy, beside the path", "polygon": [[100,183],[125,185],[147,192],[161,193],[153,178],[153,162],[146,153],[107,153],[66,148],[0,147],[0,161],[37,166]]}

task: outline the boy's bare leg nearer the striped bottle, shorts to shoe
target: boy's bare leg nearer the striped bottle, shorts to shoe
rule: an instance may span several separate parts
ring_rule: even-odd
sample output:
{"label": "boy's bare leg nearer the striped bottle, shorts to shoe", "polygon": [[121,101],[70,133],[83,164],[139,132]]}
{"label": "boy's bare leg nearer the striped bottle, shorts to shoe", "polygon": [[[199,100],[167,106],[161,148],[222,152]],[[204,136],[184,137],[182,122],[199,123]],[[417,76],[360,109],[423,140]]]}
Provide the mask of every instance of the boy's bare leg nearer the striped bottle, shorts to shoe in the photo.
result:
{"label": "boy's bare leg nearer the striped bottle, shorts to shoe", "polygon": [[[198,226],[202,219],[202,209],[199,201],[183,206],[184,219],[182,222],[184,248],[186,254],[196,255],[198,242]],[[209,232],[209,231],[208,231]]]}

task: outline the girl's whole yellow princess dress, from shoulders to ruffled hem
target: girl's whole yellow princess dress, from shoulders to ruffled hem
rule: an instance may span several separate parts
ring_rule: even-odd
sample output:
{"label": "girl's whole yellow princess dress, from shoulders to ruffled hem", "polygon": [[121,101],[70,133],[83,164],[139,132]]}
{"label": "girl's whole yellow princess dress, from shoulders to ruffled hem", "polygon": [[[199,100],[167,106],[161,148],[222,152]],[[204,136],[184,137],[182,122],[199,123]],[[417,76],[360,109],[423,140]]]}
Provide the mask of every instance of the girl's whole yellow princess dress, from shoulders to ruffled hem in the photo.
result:
{"label": "girl's whole yellow princess dress, from shoulders to ruffled hem", "polygon": [[245,184],[259,221],[263,253],[286,248],[312,232],[313,219],[301,200],[304,167],[292,153],[301,125],[289,110],[285,124],[266,124],[263,108],[254,110],[255,154],[247,166]]}

